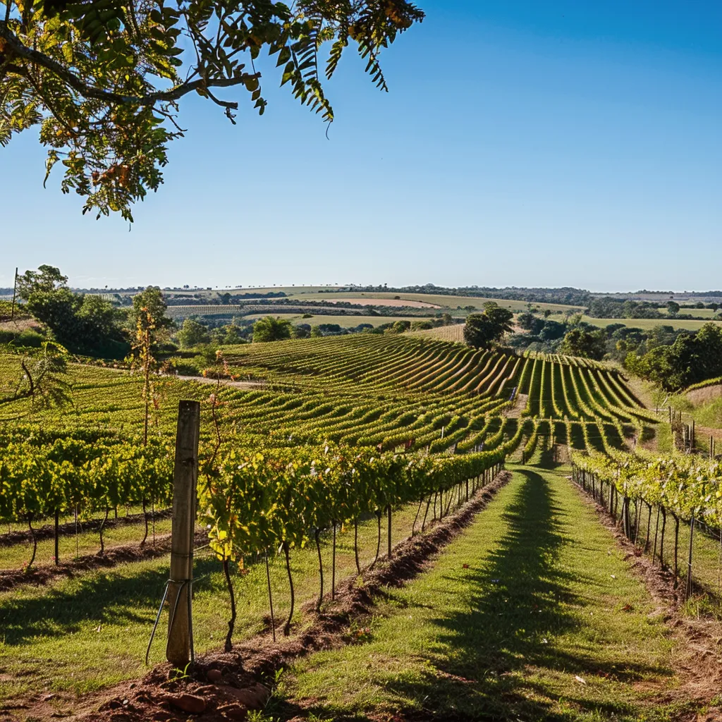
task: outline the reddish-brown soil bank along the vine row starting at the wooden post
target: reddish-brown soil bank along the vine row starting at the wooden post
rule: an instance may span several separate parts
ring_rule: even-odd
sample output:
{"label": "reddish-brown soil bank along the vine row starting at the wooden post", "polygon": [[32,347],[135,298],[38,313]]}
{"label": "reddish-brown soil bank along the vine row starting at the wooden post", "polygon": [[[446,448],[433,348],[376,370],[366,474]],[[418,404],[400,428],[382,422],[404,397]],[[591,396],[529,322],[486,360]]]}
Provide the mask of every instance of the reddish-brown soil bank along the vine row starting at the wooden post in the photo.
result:
{"label": "reddish-brown soil bank along the vine row starting at the wooden post", "polygon": [[173,679],[170,664],[162,664],[142,680],[123,682],[82,700],[64,693],[14,700],[0,707],[0,720],[5,719],[3,709],[22,709],[27,718],[37,722],[57,718],[71,722],[181,722],[190,714],[202,722],[243,720],[248,710],[262,709],[268,701],[268,683],[275,671],[300,656],[347,643],[351,622],[373,614],[375,596],[384,587],[402,586],[425,570],[435,554],[458,536],[510,479],[508,471],[497,474],[456,513],[425,534],[396,544],[391,560],[364,570],[362,580],[356,576],[343,580],[334,601],[326,595],[321,614],[313,614],[313,603],[305,605],[303,619],[299,615],[302,620],[293,625],[295,634],[290,637],[282,636],[282,625],[277,622],[274,643],[267,622],[264,632],[234,645],[231,653],[212,651],[196,658],[193,671],[183,679]]}

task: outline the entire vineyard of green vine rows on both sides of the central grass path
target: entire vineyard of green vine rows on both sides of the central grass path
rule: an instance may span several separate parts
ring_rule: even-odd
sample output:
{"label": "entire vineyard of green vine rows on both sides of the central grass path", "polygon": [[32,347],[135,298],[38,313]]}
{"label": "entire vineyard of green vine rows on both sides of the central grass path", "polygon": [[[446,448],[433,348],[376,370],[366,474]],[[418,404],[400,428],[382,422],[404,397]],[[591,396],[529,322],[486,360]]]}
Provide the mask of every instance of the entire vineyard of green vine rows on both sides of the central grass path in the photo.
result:
{"label": "entire vineyard of green vine rows on both sides of the central grass path", "polygon": [[[274,643],[291,635],[333,603],[340,580],[388,565],[396,545],[496,490],[510,478],[505,466],[568,458],[573,479],[642,553],[685,580],[687,597],[720,586],[718,465],[645,451],[660,422],[618,370],[477,351],[426,332],[248,344],[226,347],[220,360],[217,380],[154,379],[146,443],[142,378],[126,371],[71,365],[66,409],[34,410],[27,399],[0,406],[0,623],[9,630],[0,692],[29,693],[16,674],[23,664],[46,689],[77,693],[137,677],[148,653],[160,661],[160,649],[145,645],[168,578],[180,399],[201,403],[196,654],[230,651],[254,634]],[[5,388],[18,365],[0,358]],[[113,607],[127,595],[132,614],[103,612],[85,629],[48,606],[48,588],[71,600],[102,579],[112,589],[91,603]],[[37,661],[55,645],[45,614],[68,645],[62,668],[83,682]],[[127,648],[98,671],[68,635],[81,630],[79,643],[103,655],[109,639],[92,630],[105,625],[126,635]]]}

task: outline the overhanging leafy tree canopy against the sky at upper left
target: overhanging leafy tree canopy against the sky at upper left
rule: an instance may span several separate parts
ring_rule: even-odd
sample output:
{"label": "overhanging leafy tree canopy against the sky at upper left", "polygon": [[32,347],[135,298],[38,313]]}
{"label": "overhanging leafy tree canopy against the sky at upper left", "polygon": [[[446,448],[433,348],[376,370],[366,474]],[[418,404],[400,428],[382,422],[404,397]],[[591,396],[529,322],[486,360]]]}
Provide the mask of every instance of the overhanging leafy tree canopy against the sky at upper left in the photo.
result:
{"label": "overhanging leafy tree canopy against the sky at upper left", "polygon": [[168,143],[183,136],[183,96],[201,95],[233,122],[243,89],[263,113],[254,61],[268,53],[281,84],[330,122],[322,80],[344,49],[355,43],[386,90],[380,52],[423,17],[406,0],[0,0],[0,144],[40,126],[48,175],[65,167],[64,193],[83,196],[84,213],[132,221],[132,204],[162,183]]}

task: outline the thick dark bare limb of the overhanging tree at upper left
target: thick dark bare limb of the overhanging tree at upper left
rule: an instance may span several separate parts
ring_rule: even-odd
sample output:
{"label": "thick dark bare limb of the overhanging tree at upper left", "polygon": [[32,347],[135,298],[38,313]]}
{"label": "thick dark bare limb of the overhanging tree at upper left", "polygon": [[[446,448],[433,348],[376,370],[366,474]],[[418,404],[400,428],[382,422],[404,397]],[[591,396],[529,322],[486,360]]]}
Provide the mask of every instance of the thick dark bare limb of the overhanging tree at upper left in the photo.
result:
{"label": "thick dark bare limb of the overhanging tree at upper left", "polygon": [[[68,69],[64,68],[60,63],[46,56],[44,53],[40,53],[32,48],[27,48],[23,45],[20,40],[8,30],[7,23],[0,21],[0,38],[5,40],[6,48],[9,48],[11,53],[24,58],[27,61],[31,61],[39,66],[51,71],[58,78],[68,84],[73,90],[76,90],[80,95],[86,98],[92,98],[92,100],[102,100],[105,103],[117,103],[118,105],[155,105],[156,103],[169,103],[173,100],[178,100],[184,95],[188,95],[189,92],[196,90],[206,90],[209,87],[232,87],[235,85],[242,85],[252,79],[259,79],[260,73],[243,73],[237,78],[212,78],[212,79],[199,79],[193,82],[185,82],[177,87],[171,88],[170,90],[159,90],[158,92],[149,93],[148,95],[122,95],[121,93],[112,92],[110,90],[101,90],[97,87],[92,87],[83,82],[77,75],[71,73]],[[15,66],[12,66],[13,68]],[[25,72],[18,72],[19,75],[26,75]],[[238,109],[238,103],[223,103],[225,108],[232,110]]]}

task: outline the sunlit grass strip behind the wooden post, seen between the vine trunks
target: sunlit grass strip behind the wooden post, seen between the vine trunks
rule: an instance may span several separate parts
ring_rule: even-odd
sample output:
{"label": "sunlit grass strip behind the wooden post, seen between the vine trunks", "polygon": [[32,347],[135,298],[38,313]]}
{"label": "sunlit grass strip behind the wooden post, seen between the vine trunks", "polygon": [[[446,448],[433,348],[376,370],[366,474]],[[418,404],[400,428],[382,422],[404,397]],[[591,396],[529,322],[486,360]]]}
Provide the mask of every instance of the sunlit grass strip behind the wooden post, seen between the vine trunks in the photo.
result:
{"label": "sunlit grass strip behind the wooden post, seen between the vine trunks", "polygon": [[[411,532],[417,505],[393,514],[392,539]],[[431,517],[431,515],[430,515]],[[386,548],[385,520],[381,554]],[[137,529],[136,529],[137,531]],[[97,539],[97,537],[96,537]],[[362,565],[373,560],[377,539],[375,518],[360,525]],[[96,547],[97,548],[97,547]],[[331,583],[330,535],[323,537],[326,591]],[[268,614],[266,573],[262,563],[247,559],[248,574],[235,575],[238,604],[236,640],[264,628]],[[300,606],[318,595],[318,557],[312,545],[291,552],[296,592],[295,619]],[[145,649],[165,581],[168,556],[146,562],[97,570],[44,587],[23,586],[0,594],[0,700],[30,692],[89,692],[121,679],[140,677]],[[196,558],[193,630],[196,652],[222,645],[230,616],[220,563],[206,549]],[[336,580],[355,574],[353,529],[338,535]],[[271,585],[277,623],[289,608],[288,580],[282,557],[271,557]],[[165,614],[151,661],[163,661]],[[280,632],[279,632],[280,633]]]}

